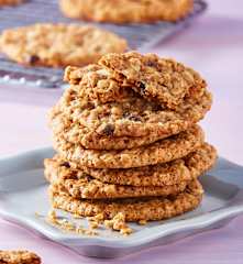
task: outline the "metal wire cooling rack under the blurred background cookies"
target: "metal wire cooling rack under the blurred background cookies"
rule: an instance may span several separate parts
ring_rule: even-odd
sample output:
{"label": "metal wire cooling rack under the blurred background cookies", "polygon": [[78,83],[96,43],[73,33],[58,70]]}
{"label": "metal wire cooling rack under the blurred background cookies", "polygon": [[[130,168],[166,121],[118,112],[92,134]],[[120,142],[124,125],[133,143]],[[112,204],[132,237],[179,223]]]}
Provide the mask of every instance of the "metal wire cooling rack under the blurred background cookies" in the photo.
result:
{"label": "metal wire cooling rack under the blurred background cookies", "polygon": [[[156,42],[164,40],[179,30],[186,28],[195,18],[207,8],[202,0],[195,0],[192,12],[176,23],[157,22],[155,24],[97,24],[99,28],[110,30],[128,40],[133,50],[145,50]],[[0,9],[0,32],[4,29],[16,28],[36,22],[87,22],[74,21],[64,18],[58,9],[57,0],[30,0],[18,7]],[[63,69],[46,67],[24,67],[9,61],[0,54],[0,81],[34,85],[42,88],[58,88],[63,86]]]}

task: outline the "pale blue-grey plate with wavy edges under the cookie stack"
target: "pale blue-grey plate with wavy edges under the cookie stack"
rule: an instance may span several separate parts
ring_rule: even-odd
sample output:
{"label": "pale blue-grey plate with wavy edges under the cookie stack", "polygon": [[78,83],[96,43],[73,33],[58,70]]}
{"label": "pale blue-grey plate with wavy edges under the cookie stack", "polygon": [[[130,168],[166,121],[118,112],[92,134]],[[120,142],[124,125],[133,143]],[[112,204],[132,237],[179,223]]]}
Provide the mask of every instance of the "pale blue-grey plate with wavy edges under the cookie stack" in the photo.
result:
{"label": "pale blue-grey plate with wavy edges under the cookie stack", "polygon": [[[104,229],[96,237],[64,233],[45,222],[49,204],[43,160],[53,153],[52,148],[43,148],[0,160],[0,216],[84,255],[115,257],[166,244],[206,229],[222,227],[243,212],[243,167],[219,158],[217,166],[201,177],[205,198],[202,205],[191,212],[145,227],[133,223],[135,232],[129,237]],[[68,218],[60,211],[58,215]],[[80,221],[87,224],[86,220]]]}

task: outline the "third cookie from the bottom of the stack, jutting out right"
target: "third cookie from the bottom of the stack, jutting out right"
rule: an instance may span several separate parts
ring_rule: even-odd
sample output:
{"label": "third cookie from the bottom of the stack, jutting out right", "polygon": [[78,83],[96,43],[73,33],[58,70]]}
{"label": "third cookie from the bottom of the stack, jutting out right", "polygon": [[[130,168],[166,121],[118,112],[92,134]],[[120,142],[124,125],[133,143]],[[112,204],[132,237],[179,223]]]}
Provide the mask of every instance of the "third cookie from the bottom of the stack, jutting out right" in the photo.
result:
{"label": "third cookie from the bottom of the stack, jutting out right", "polygon": [[80,167],[76,163],[65,163],[56,156],[59,164],[65,164],[77,170],[81,169],[100,182],[132,186],[170,186],[192,180],[210,169],[216,160],[217,151],[208,143],[202,144],[189,155],[169,163],[125,169]]}

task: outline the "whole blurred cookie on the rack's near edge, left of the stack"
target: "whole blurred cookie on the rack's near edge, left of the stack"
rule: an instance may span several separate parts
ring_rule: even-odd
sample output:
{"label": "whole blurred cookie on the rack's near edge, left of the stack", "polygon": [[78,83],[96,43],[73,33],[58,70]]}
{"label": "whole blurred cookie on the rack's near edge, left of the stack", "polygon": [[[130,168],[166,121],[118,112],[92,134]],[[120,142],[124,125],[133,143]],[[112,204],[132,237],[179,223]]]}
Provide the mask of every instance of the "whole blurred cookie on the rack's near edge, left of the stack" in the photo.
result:
{"label": "whole blurred cookie on the rack's near edge, left of the stack", "polygon": [[89,25],[33,24],[3,31],[1,52],[29,66],[84,66],[126,50],[125,40]]}

